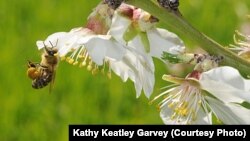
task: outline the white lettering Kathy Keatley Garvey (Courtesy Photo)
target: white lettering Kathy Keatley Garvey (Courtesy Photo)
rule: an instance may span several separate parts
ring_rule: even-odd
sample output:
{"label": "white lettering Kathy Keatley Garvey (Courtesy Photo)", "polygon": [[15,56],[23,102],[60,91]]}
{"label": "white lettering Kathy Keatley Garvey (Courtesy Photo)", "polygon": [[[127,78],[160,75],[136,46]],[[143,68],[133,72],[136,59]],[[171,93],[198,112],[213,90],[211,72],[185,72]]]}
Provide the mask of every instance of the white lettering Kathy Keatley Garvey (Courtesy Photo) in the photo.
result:
{"label": "white lettering Kathy Keatley Garvey (Courtesy Photo)", "polygon": [[204,131],[204,130],[181,130],[181,129],[171,129],[170,131],[147,131],[144,129],[138,129],[135,131],[131,130],[125,130],[125,129],[119,129],[119,130],[109,130],[109,129],[102,129],[102,130],[91,130],[91,129],[73,129],[73,136],[86,136],[86,137],[93,137],[97,138],[99,135],[102,137],[128,137],[133,138],[136,133],[136,136],[156,136],[156,137],[162,137],[162,138],[175,138],[175,137],[208,137],[213,138],[214,136],[224,136],[224,137],[230,137],[230,136],[239,136],[242,138],[246,137],[246,130],[226,130],[226,129],[216,129]]}

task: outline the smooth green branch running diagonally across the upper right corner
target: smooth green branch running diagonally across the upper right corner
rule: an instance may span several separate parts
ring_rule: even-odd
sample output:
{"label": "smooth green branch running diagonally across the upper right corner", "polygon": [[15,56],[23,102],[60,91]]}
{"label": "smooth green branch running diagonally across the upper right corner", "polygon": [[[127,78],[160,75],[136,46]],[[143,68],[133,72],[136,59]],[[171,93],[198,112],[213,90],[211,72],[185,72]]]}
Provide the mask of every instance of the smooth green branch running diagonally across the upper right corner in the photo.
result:
{"label": "smooth green branch running diagonally across the upper right corner", "polygon": [[237,68],[242,76],[246,78],[250,77],[250,62],[240,58],[237,54],[226,49],[225,47],[210,39],[208,36],[199,32],[180,14],[163,9],[151,0],[126,0],[126,3],[151,13],[160,19],[161,22],[166,24],[166,27],[171,29],[171,31],[184,35],[190,40],[193,40],[209,54],[223,56],[224,60],[222,61],[221,65]]}

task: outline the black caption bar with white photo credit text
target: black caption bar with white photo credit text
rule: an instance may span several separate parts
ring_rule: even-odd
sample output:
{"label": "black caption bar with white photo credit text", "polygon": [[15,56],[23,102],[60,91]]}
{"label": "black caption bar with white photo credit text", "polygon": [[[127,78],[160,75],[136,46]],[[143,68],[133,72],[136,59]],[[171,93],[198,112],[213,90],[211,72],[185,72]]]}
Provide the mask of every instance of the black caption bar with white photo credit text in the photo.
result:
{"label": "black caption bar with white photo credit text", "polygon": [[250,125],[69,125],[69,141],[110,139],[250,141]]}

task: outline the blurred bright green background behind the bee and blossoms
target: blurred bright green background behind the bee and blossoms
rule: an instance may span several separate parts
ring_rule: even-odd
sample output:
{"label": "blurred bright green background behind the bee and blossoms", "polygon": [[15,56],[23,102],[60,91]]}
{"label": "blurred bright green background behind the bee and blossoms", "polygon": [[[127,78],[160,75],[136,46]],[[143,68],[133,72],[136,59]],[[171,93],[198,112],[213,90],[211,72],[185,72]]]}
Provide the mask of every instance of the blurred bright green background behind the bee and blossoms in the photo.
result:
{"label": "blurred bright green background behind the bee and blossoms", "polygon": [[[69,124],[162,124],[156,104],[136,99],[131,81],[93,76],[86,69],[59,64],[52,94],[31,88],[27,60],[40,60],[36,40],[84,25],[99,0],[0,1],[0,140],[67,141]],[[180,0],[183,16],[222,45],[236,29],[248,31],[250,1]],[[161,24],[164,27],[164,25]],[[248,29],[248,30],[247,30]],[[194,44],[181,36],[188,47]],[[166,85],[166,66],[155,60],[153,96]],[[152,97],[153,97],[152,96]]]}

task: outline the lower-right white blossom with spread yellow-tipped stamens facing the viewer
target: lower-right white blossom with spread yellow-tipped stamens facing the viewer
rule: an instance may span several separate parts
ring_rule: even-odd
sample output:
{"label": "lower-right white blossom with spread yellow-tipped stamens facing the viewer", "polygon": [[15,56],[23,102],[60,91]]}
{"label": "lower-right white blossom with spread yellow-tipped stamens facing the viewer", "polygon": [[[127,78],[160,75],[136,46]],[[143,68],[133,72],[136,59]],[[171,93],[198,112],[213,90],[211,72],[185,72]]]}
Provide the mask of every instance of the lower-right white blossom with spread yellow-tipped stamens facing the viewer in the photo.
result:
{"label": "lower-right white blossom with spread yellow-tipped stamens facing the viewer", "polygon": [[185,79],[164,75],[177,84],[157,96],[165,96],[159,104],[165,124],[212,124],[212,116],[223,124],[249,124],[250,80],[231,67],[219,67],[200,73],[192,72]]}

